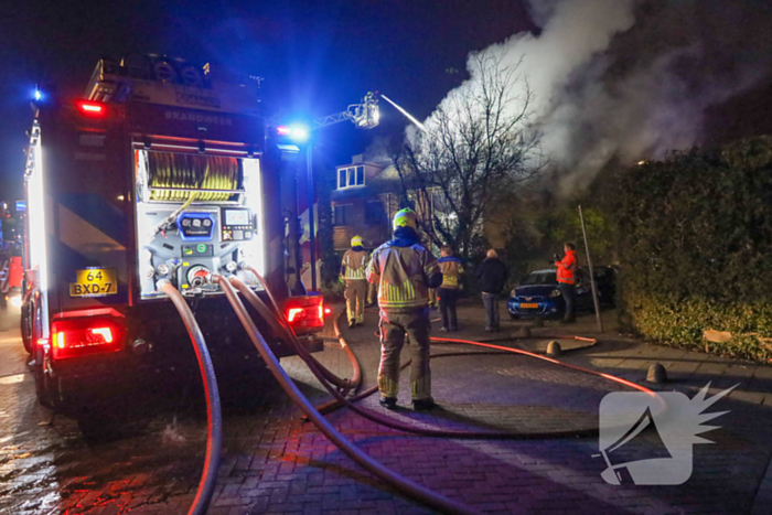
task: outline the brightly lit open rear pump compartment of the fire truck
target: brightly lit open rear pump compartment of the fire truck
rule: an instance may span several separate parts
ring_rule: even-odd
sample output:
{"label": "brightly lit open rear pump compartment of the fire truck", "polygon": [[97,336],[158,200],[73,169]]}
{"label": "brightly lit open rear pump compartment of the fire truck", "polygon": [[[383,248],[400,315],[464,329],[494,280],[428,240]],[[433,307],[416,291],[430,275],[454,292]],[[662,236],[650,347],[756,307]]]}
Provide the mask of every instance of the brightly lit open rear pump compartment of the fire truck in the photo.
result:
{"label": "brightly lit open rear pump compartment of the fire truck", "polygon": [[266,261],[258,158],[135,150],[140,299],[163,298],[169,279],[184,294],[217,294],[207,273],[258,270]]}

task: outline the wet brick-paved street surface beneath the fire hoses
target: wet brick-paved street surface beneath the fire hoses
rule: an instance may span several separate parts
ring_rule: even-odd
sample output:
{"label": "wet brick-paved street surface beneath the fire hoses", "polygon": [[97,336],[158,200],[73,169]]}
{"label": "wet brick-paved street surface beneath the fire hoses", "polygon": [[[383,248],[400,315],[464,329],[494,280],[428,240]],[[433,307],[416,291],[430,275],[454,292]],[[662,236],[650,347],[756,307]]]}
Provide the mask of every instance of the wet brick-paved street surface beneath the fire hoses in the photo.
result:
{"label": "wet brick-paved street surface beneath the fire hoses", "polygon": [[[473,319],[472,319],[473,320]],[[378,345],[368,328],[349,336],[364,368],[365,385],[375,380]],[[473,331],[473,328],[469,328]],[[544,331],[549,331],[546,328]],[[24,354],[14,332],[0,333],[0,512],[2,513],[185,513],[203,464],[205,412],[195,394],[172,398],[111,441],[86,441],[74,421],[49,414],[34,403],[24,372]],[[432,352],[458,352],[441,345]],[[323,363],[349,375],[347,360],[335,346],[319,354]],[[694,393],[708,378],[715,385],[741,382],[737,394],[715,410],[725,426],[696,446],[695,473],[680,486],[612,486],[600,472],[594,438],[526,441],[472,441],[405,436],[344,410],[329,419],[368,454],[399,473],[462,500],[484,513],[748,513],[770,461],[772,411],[765,406],[769,368],[749,367],[694,353],[640,345],[603,344],[567,361],[641,380],[645,364],[667,361],[690,371],[668,387]],[[318,403],[326,395],[297,358],[282,360],[302,389]],[[696,366],[694,366],[696,364]],[[706,367],[711,365],[711,367]],[[701,369],[701,372],[700,372]],[[388,414],[425,426],[505,428],[523,431],[589,427],[598,403],[618,385],[521,356],[469,355],[432,363],[435,393],[442,410]],[[12,378],[2,382],[6,378]],[[403,382],[400,404],[407,405]],[[362,406],[387,414],[375,397]],[[248,409],[230,409],[217,493],[211,513],[427,513],[360,470],[303,422],[297,409],[267,380]],[[645,458],[657,444],[652,434],[636,439],[625,457]],[[759,512],[765,513],[765,512]]]}

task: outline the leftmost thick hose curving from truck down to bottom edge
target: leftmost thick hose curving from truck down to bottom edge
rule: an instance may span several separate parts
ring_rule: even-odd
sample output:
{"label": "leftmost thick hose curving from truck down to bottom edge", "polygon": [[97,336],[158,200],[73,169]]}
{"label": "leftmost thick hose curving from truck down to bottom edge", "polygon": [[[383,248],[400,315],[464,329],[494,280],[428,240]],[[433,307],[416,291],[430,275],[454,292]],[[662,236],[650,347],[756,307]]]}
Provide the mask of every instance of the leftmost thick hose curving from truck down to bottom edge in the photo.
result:
{"label": "leftmost thick hose curving from truck down to bottom edge", "polygon": [[187,512],[189,515],[203,515],[212,501],[212,494],[217,481],[217,469],[219,469],[221,449],[223,448],[223,416],[219,408],[217,378],[214,374],[212,357],[206,347],[204,335],[201,333],[199,323],[195,321],[195,316],[193,316],[185,299],[165,279],[160,280],[158,287],[172,300],[174,308],[180,312],[180,316],[193,343],[193,348],[195,348],[195,357],[199,360],[199,367],[201,368],[201,379],[204,383],[204,394],[206,395],[206,459],[204,460],[204,470],[199,482],[199,490]]}

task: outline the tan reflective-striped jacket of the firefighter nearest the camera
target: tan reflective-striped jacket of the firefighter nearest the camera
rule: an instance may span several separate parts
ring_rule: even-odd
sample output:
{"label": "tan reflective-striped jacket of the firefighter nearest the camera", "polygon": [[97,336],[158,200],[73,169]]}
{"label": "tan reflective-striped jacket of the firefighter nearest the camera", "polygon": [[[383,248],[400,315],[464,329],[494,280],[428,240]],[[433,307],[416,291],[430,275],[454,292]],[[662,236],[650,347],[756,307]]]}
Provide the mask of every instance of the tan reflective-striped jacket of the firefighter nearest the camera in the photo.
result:
{"label": "tan reflective-striped jacket of the firefighter nearest the camera", "polygon": [[420,244],[397,247],[387,242],[373,251],[367,280],[378,285],[383,309],[423,308],[429,303],[429,278],[439,271],[435,256]]}

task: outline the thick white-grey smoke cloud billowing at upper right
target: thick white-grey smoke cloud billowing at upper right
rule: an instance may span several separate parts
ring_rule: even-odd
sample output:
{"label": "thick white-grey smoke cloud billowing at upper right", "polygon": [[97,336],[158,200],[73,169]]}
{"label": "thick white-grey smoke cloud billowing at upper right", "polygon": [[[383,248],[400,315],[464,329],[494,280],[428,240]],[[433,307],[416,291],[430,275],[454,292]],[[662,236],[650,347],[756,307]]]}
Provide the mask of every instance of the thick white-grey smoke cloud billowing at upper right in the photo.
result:
{"label": "thick white-grey smoke cloud billowing at upper right", "polygon": [[[561,193],[586,185],[611,160],[630,164],[699,143],[706,109],[769,74],[749,62],[757,54],[743,54],[742,41],[757,37],[753,44],[763,49],[772,43],[772,31],[750,10],[738,13],[727,6],[732,2],[530,3],[542,32],[513,35],[483,53],[502,66],[519,66],[527,79],[534,95],[530,121],[543,133],[544,153],[565,175]],[[763,11],[763,2],[755,9]],[[716,50],[719,45],[729,50]],[[472,58],[468,68],[470,78],[441,107],[475,89],[481,78]],[[512,109],[515,114],[519,106]],[[426,125],[435,125],[436,117]]]}

